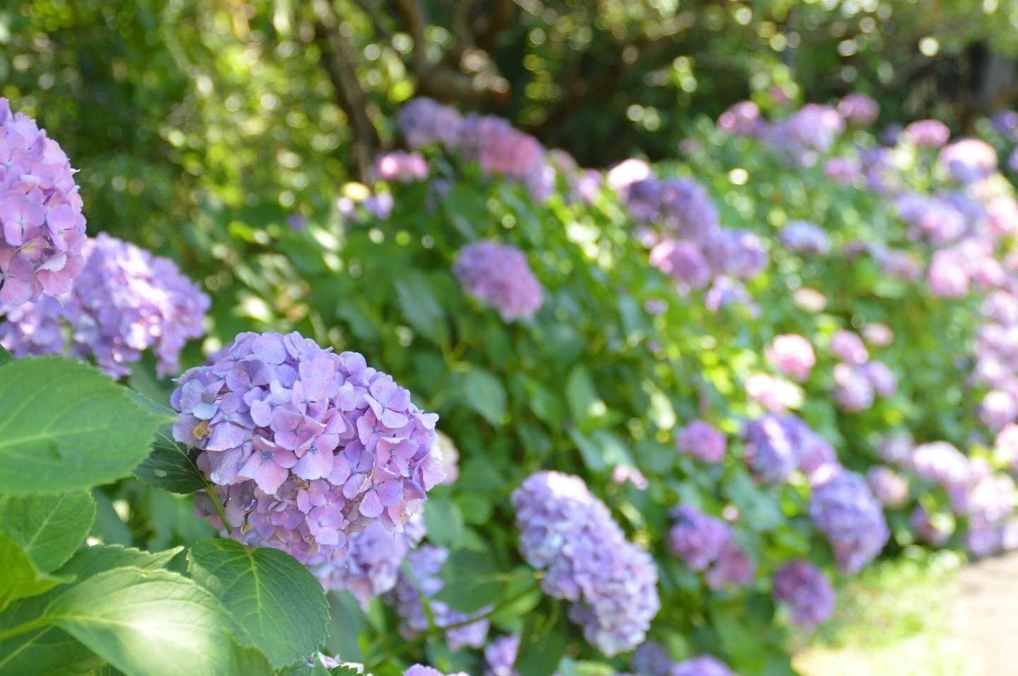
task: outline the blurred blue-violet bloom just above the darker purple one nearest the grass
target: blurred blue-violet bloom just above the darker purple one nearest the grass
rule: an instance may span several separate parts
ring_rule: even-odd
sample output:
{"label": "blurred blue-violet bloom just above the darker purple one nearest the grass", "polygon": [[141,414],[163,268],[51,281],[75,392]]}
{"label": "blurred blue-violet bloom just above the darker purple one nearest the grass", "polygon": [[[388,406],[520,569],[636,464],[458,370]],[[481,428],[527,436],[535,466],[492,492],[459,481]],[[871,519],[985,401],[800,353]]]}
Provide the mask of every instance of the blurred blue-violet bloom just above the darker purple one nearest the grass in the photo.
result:
{"label": "blurred blue-violet bloom just above the darker purple one nearest the grass", "polygon": [[880,502],[853,471],[839,471],[813,488],[809,516],[827,536],[843,573],[859,572],[891,536]]}

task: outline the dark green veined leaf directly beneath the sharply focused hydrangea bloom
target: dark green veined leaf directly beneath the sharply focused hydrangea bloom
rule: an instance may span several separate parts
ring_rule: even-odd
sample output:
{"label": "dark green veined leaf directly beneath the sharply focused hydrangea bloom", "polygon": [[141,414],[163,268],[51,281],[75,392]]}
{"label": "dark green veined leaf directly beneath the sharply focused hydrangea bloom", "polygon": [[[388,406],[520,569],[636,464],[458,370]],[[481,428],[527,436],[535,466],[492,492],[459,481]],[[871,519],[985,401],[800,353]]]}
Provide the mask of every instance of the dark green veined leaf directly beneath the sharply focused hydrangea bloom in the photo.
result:
{"label": "dark green veined leaf directly beneath the sharply focused hydrangea bloom", "polygon": [[279,669],[318,650],[329,603],[306,566],[277,549],[203,540],[187,554],[194,580],[212,592]]}

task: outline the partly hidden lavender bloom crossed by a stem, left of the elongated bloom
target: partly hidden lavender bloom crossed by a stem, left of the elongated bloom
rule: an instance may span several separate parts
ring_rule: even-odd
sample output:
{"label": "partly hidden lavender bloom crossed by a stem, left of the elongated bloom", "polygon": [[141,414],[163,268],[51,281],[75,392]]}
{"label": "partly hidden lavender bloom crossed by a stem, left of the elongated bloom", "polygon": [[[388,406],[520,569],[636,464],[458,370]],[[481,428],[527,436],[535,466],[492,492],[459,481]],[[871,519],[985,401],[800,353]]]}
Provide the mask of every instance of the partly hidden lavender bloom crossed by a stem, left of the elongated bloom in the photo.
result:
{"label": "partly hidden lavender bloom crossed by a stem, left of the elongated bloom", "polygon": [[[386,595],[386,600],[399,615],[399,633],[403,638],[410,639],[428,631],[428,614],[421,596],[428,599],[435,625],[439,628],[486,615],[491,610],[490,607],[486,607],[468,615],[433,599],[445,586],[445,581],[439,577],[439,571],[448,558],[447,549],[434,545],[423,545],[406,555],[406,562],[413,574],[407,575],[400,571],[396,585]],[[488,638],[488,619],[485,617],[463,626],[447,629],[445,640],[449,650],[455,652],[464,645],[480,647]]]}

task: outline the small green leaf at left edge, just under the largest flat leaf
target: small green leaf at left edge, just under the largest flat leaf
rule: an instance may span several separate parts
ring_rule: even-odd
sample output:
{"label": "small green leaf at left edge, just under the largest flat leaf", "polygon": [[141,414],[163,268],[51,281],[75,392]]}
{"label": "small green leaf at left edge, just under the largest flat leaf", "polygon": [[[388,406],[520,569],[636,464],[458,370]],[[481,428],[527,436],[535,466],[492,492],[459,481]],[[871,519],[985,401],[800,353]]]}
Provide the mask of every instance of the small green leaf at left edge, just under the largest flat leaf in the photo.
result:
{"label": "small green leaf at left edge, just under the largest flat leaf", "polygon": [[0,532],[46,573],[70,558],[95,518],[96,503],[84,491],[0,498]]}

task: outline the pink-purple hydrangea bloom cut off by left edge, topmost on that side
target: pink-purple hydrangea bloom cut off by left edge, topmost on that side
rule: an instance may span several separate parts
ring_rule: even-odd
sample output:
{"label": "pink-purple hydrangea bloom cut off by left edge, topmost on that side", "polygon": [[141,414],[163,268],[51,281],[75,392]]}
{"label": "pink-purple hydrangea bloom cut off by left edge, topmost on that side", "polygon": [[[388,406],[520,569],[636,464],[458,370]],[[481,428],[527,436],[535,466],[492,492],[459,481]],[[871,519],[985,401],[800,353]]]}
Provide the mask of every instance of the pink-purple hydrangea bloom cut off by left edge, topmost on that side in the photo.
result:
{"label": "pink-purple hydrangea bloom cut off by left edge, topmost on that side", "polygon": [[0,315],[59,295],[84,266],[84,217],[67,156],[0,97]]}

